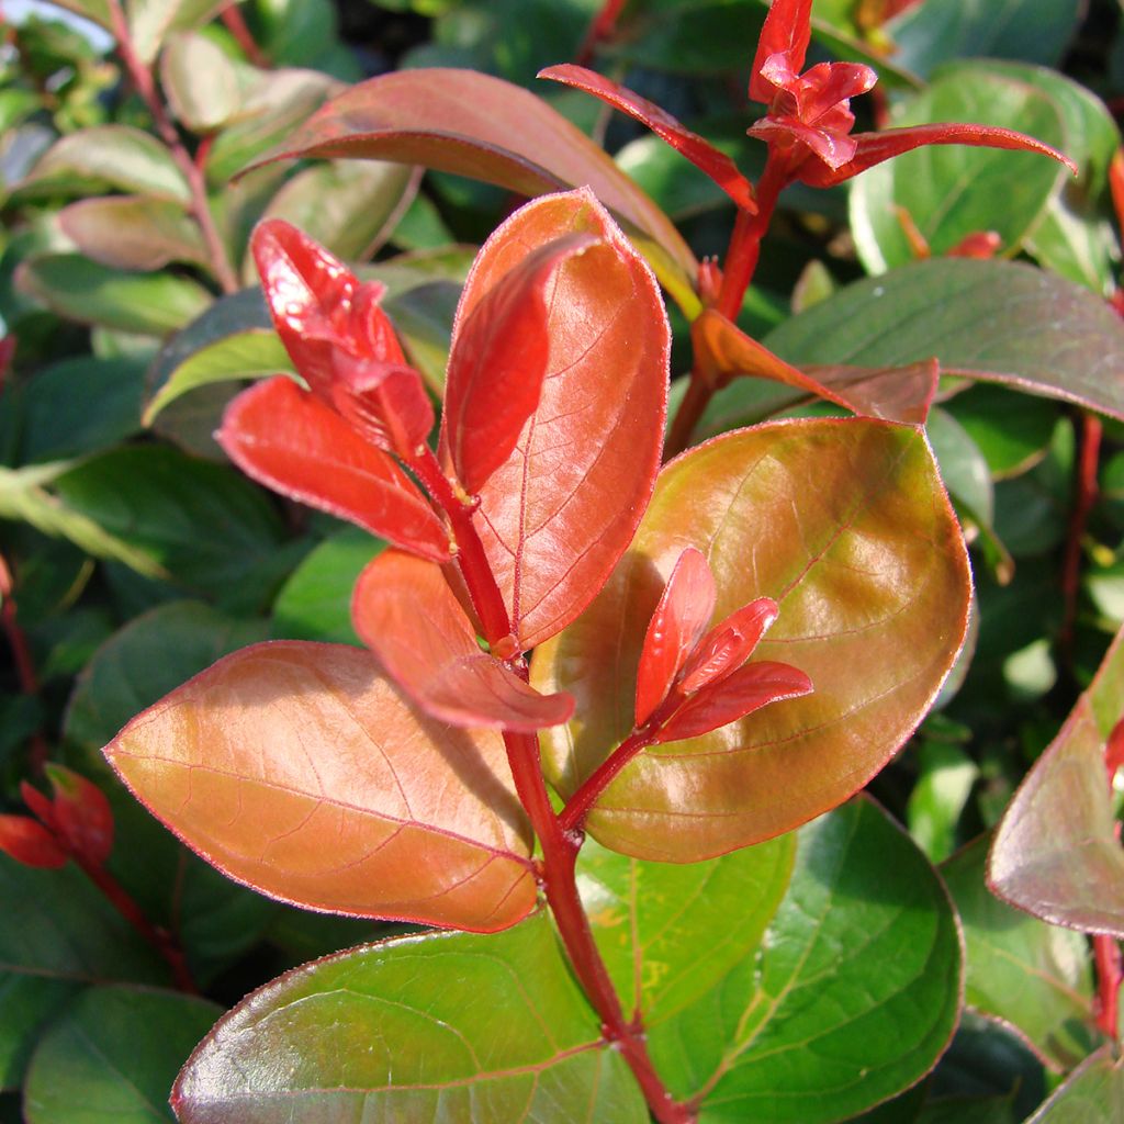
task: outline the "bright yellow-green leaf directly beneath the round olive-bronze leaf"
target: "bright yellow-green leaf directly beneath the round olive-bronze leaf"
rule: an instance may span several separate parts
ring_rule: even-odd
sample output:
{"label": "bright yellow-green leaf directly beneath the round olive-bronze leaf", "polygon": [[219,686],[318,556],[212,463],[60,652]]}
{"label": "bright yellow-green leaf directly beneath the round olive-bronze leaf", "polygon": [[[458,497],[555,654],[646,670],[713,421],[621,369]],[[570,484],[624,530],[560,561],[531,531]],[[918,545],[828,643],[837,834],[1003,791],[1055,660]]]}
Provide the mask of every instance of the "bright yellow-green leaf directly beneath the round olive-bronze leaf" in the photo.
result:
{"label": "bright yellow-green leaf directly beneath the round olive-bronze leaf", "polygon": [[587,840],[578,860],[582,904],[620,1005],[641,1013],[645,1031],[753,957],[795,854],[792,834],[687,864],[642,862]]}

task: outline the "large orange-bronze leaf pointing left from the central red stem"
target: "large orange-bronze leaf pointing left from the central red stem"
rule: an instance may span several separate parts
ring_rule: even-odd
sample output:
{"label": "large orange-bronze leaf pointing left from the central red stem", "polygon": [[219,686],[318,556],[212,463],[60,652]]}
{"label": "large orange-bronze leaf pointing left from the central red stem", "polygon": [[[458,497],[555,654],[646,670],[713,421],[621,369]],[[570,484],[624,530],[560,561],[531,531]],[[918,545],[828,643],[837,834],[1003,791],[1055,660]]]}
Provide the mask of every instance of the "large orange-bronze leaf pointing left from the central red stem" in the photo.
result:
{"label": "large orange-bronze leaf pointing left from the central red stem", "polygon": [[479,932],[534,907],[499,735],[420,714],[361,649],[243,649],[105,752],[189,846],[271,897]]}

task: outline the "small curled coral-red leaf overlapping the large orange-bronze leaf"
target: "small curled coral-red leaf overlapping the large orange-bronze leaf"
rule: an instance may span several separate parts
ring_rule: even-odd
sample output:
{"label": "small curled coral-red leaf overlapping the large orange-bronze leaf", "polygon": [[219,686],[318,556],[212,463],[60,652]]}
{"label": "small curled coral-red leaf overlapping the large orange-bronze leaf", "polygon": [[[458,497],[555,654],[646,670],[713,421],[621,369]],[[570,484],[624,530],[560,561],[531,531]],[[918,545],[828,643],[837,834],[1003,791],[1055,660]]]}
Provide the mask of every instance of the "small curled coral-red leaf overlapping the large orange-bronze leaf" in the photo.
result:
{"label": "small curled coral-red leaf overlapping the large orange-bronze leaf", "polygon": [[573,714],[569,695],[540,695],[480,651],[441,566],[399,551],[355,584],[352,620],[388,674],[427,714],[454,726],[534,732]]}

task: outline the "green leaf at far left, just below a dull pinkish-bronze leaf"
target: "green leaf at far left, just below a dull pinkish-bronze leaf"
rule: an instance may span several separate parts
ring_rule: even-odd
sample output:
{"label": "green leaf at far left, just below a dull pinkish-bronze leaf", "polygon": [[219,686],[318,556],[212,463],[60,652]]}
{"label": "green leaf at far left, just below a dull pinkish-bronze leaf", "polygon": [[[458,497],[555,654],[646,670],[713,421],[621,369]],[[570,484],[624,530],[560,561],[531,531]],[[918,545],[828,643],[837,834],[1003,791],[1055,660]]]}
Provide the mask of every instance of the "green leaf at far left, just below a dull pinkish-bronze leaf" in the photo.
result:
{"label": "green leaf at far left, just below a dull pinkish-bronze leaf", "polygon": [[24,262],[16,283],[53,312],[79,324],[163,336],[211,302],[194,281],[172,273],[126,273],[80,254],[45,254]]}

